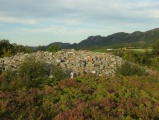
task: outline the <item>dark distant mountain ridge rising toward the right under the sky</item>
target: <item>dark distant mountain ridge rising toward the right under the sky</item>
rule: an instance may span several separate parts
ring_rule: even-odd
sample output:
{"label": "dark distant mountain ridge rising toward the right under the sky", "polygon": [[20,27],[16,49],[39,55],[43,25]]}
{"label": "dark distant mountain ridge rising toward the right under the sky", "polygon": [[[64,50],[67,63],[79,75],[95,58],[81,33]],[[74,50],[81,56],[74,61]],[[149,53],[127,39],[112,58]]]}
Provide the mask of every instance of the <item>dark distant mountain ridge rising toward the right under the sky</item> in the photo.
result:
{"label": "dark distant mountain ridge rising toward the right under the sky", "polygon": [[49,44],[47,47],[56,44],[62,48],[90,48],[103,47],[114,45],[150,45],[154,41],[159,40],[159,28],[148,30],[146,32],[135,31],[133,33],[118,32],[112,35],[104,36],[89,36],[87,39],[79,43],[62,43],[55,42]]}

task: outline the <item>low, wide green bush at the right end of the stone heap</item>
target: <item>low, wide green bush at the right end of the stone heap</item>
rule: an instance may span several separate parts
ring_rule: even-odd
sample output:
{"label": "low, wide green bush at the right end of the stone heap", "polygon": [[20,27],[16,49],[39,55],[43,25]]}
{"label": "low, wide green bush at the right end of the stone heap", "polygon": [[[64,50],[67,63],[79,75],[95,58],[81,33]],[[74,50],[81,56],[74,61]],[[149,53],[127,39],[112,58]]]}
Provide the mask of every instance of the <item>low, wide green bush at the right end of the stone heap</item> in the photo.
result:
{"label": "low, wide green bush at the right end of the stone heap", "polygon": [[117,73],[124,76],[146,75],[146,71],[144,68],[127,61],[125,61],[121,66],[117,67]]}

